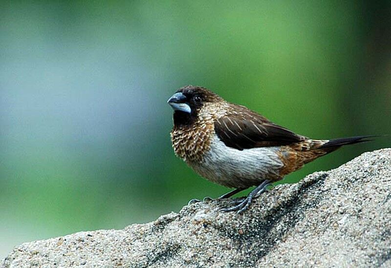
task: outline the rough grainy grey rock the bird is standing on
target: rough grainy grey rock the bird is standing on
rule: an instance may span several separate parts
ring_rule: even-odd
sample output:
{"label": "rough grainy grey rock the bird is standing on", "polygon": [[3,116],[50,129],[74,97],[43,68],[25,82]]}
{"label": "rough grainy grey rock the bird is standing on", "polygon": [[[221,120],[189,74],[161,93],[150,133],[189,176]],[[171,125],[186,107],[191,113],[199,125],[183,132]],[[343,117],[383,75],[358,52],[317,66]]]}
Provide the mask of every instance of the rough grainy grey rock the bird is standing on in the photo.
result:
{"label": "rough grainy grey rock the bird is standing on", "polygon": [[3,267],[391,267],[391,149],[365,153],[295,185],[276,186],[243,214],[228,201],[123,230],[22,244]]}

